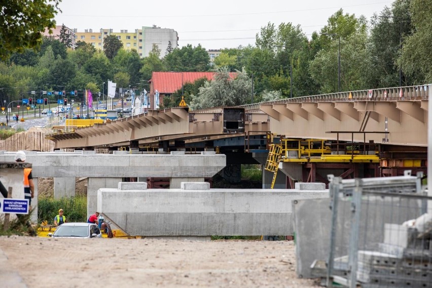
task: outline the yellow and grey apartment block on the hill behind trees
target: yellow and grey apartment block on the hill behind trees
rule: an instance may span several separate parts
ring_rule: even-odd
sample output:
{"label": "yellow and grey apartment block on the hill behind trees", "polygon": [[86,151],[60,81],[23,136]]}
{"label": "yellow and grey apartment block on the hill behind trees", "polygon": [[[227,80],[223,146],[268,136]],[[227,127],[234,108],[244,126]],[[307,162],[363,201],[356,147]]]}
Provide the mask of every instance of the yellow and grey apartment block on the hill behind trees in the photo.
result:
{"label": "yellow and grey apartment block on the hill behind trees", "polygon": [[74,29],[76,42],[83,41],[93,45],[96,49],[103,49],[103,39],[107,35],[116,35],[123,43],[125,50],[135,49],[139,56],[147,57],[152,51],[153,44],[158,45],[161,50],[161,58],[165,56],[165,51],[171,43],[172,48],[178,47],[178,34],[174,29],[161,28],[153,25],[152,27],[142,26],[141,29],[134,31],[113,29],[103,29],[93,31],[93,29],[85,29],[84,32],[78,32]]}

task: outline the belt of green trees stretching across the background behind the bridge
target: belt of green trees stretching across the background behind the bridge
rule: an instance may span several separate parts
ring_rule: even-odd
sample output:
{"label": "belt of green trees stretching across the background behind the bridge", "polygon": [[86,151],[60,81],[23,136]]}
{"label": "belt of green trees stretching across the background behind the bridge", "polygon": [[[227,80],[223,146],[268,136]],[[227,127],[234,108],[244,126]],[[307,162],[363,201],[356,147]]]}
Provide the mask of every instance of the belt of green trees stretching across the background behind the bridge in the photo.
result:
{"label": "belt of green trees stretching across the background behind the bridge", "polygon": [[[98,51],[84,42],[71,49],[60,33],[59,39],[41,39],[36,49],[2,54],[0,101],[20,99],[29,90],[107,91],[107,79],[117,87],[149,90],[153,71],[215,71],[211,82],[184,85],[193,109],[427,84],[432,81],[430,15],[432,0],[395,0],[371,19],[340,9],[310,39],[300,25],[269,22],[254,46],[223,49],[214,62],[201,45],[168,45],[166,51],[154,45],[141,58],[136,50],[124,50],[116,35],[107,36]],[[230,72],[237,73],[235,80]],[[164,107],[178,105],[181,90],[166,97]]]}

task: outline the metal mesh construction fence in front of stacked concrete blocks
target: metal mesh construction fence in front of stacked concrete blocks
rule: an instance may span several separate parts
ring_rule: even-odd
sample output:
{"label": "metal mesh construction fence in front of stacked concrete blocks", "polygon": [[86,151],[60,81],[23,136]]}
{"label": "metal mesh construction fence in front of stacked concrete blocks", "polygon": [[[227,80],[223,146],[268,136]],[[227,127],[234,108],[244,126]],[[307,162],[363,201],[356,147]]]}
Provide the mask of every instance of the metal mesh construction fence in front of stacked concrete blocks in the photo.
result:
{"label": "metal mesh construction fence in front of stacked concrete blocks", "polygon": [[432,287],[432,197],[421,177],[330,176],[328,287]]}

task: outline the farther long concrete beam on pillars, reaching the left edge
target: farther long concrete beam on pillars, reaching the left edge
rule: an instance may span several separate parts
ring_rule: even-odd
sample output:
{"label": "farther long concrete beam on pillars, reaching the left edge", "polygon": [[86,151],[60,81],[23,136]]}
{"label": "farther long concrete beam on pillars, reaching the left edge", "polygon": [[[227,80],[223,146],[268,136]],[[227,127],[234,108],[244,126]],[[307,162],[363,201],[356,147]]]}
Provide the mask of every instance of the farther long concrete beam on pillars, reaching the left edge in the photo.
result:
{"label": "farther long concrete beam on pillars, reaching the left edge", "polygon": [[[224,154],[78,154],[28,152],[33,177],[212,177],[226,166]],[[0,154],[0,162],[14,162],[16,152]]]}

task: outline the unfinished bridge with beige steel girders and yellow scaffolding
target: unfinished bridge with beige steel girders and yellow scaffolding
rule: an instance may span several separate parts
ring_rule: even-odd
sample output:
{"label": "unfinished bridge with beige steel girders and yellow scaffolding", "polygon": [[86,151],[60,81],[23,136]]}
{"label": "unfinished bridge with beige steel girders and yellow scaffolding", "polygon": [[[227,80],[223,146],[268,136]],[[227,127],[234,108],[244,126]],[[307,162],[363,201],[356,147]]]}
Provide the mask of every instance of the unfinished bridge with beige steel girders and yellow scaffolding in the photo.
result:
{"label": "unfinished bridge with beige steel girders and yellow scaffolding", "polygon": [[431,85],[420,85],[202,111],[173,107],[105,123],[66,121],[48,137],[56,149],[98,153],[212,150],[228,156],[227,166],[265,166],[263,188],[327,184],[329,173],[376,177],[410,169],[426,175],[430,93]]}

